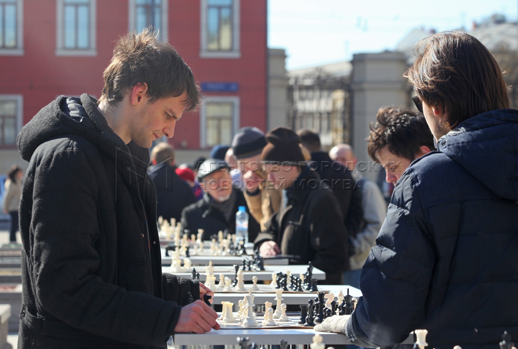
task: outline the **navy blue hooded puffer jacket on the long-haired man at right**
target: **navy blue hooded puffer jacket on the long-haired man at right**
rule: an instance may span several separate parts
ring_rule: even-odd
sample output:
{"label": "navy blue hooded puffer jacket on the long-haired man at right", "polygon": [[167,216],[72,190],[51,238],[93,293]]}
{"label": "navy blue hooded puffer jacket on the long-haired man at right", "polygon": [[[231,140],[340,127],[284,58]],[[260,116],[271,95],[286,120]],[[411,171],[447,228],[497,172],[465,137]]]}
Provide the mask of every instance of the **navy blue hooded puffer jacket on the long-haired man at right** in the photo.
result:
{"label": "navy blue hooded puffer jacket on the long-haired man at right", "polygon": [[399,179],[365,263],[347,336],[391,346],[417,328],[430,348],[518,340],[518,111],[461,123]]}

